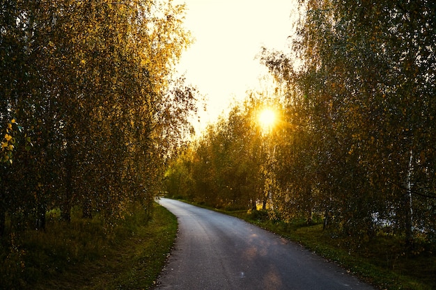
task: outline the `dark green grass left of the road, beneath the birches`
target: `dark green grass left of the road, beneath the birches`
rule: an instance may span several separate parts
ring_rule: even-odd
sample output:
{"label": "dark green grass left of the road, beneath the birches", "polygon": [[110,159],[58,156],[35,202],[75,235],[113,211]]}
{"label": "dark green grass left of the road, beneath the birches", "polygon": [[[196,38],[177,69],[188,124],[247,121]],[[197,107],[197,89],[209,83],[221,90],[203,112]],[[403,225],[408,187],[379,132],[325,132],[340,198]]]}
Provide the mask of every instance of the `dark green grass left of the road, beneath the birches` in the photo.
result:
{"label": "dark green grass left of the road, beneath the birches", "polygon": [[[150,289],[176,237],[177,220],[155,204],[104,229],[98,217],[53,220],[0,248],[0,289]],[[10,240],[10,239],[9,239]]]}

